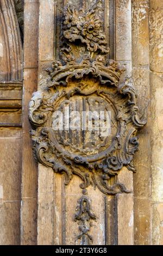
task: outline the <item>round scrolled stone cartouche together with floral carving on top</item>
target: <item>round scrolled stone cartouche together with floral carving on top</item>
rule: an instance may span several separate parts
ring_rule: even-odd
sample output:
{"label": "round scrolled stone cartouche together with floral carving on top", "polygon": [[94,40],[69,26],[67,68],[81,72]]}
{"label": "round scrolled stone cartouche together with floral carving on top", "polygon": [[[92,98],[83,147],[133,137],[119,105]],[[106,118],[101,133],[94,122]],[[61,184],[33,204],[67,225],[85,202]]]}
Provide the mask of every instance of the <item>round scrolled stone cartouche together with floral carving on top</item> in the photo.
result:
{"label": "round scrolled stone cartouche together with floral carving on top", "polygon": [[[117,182],[110,186],[110,178],[123,166],[135,172],[136,132],[146,120],[139,114],[131,78],[120,82],[123,70],[106,58],[109,49],[99,3],[89,10],[65,7],[61,57],[47,70],[46,84],[34,93],[29,119],[37,161],[64,173],[65,184],[76,174],[83,180],[81,188],[93,185],[105,194],[115,194],[129,192]],[[54,112],[60,111],[65,117],[65,107],[78,112],[109,111],[110,135],[82,129],[55,131]]]}

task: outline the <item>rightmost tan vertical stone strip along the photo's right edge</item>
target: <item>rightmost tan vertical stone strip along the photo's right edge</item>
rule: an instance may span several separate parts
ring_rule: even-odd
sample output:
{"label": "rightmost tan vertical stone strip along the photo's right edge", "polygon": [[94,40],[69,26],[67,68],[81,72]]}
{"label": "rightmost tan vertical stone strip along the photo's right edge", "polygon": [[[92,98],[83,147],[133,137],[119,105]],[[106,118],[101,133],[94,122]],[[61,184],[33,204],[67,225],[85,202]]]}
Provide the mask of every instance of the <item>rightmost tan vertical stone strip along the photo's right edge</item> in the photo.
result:
{"label": "rightmost tan vertical stone strip along the photo's right edge", "polygon": [[152,201],[153,201],[153,244],[163,245],[162,241],[162,32],[163,32],[163,2],[150,1],[149,11],[149,54],[151,69],[151,118],[152,118]]}

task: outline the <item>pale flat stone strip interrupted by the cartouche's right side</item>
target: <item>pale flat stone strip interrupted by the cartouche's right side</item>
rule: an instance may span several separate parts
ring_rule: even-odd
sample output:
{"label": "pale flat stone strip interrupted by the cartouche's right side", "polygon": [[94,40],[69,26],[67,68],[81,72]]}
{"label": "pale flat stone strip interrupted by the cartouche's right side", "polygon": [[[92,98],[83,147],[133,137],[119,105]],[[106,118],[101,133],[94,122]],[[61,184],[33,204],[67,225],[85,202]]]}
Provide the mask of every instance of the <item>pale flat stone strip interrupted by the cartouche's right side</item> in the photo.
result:
{"label": "pale flat stone strip interrupted by the cartouche's right side", "polygon": [[[131,76],[131,1],[117,0],[115,8],[115,58],[126,68],[126,72],[121,77],[123,80],[126,76]],[[118,245],[133,245],[133,173],[123,168],[117,180],[131,191],[129,194],[117,195]],[[125,234],[124,230],[126,230]]]}

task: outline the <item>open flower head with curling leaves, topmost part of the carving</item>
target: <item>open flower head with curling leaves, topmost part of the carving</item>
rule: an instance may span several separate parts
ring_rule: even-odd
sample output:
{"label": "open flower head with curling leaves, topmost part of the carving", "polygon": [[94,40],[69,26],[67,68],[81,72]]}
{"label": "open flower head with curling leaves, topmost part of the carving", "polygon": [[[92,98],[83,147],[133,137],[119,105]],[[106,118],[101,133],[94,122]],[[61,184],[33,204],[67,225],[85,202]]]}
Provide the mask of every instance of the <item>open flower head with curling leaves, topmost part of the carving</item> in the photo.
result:
{"label": "open flower head with curling leaves, topmost part of the carving", "polygon": [[109,52],[106,47],[105,34],[103,32],[103,22],[98,17],[98,9],[71,8],[65,7],[64,36],[70,42],[80,40],[86,44],[87,50],[102,53]]}

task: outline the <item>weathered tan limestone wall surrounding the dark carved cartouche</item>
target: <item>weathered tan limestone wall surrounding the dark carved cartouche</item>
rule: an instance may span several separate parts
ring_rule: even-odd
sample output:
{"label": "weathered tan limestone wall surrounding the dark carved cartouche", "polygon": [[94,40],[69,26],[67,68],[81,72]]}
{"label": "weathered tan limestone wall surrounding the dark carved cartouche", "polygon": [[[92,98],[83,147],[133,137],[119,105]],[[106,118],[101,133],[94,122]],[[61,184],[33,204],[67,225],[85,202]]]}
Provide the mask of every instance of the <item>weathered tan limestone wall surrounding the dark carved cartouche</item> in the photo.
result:
{"label": "weathered tan limestone wall surrounding the dark carved cartouche", "polygon": [[[23,72],[14,2],[21,29],[24,22]],[[84,1],[71,2],[82,6]],[[32,93],[46,80],[46,68],[59,58],[60,26],[56,25],[67,0],[24,0],[23,19],[22,3],[0,2],[0,244],[73,244],[77,226],[72,213],[81,196],[80,180],[74,178],[65,188],[64,179],[51,168],[39,164],[37,170],[28,121]],[[124,168],[118,176],[133,193],[115,197],[89,190],[99,216],[98,231],[92,229],[98,233],[95,243],[163,245],[163,1],[105,0],[104,7],[110,58],[127,69],[123,78],[133,77],[148,123],[139,132],[137,172]],[[4,16],[8,16],[5,22]]]}

